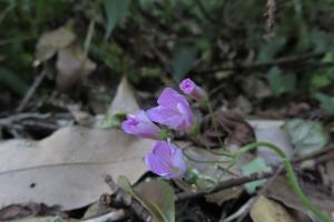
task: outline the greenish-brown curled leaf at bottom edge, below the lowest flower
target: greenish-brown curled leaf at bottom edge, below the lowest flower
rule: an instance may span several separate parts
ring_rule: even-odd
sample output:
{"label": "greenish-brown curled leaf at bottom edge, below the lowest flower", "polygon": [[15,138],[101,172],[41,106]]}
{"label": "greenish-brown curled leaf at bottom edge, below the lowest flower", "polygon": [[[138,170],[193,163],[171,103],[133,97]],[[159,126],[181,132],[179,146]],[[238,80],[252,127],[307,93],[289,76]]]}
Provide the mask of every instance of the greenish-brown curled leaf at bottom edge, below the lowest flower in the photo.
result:
{"label": "greenish-brown curled leaf at bottom edge, below the lowest flower", "polygon": [[175,194],[165,181],[143,182],[135,189],[125,176],[119,176],[118,185],[135,198],[157,222],[175,222]]}

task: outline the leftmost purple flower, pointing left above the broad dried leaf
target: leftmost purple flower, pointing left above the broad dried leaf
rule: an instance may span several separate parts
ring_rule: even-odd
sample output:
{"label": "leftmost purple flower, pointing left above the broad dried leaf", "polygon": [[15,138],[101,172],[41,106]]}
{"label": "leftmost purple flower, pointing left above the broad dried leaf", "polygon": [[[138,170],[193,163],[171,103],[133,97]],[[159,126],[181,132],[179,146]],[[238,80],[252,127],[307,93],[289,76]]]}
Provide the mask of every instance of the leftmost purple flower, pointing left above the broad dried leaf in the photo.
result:
{"label": "leftmost purple flower, pointing left above the broad dried leaf", "polygon": [[135,114],[128,114],[121,123],[121,129],[126,133],[140,138],[160,139],[160,129],[147,118],[144,110],[139,110]]}

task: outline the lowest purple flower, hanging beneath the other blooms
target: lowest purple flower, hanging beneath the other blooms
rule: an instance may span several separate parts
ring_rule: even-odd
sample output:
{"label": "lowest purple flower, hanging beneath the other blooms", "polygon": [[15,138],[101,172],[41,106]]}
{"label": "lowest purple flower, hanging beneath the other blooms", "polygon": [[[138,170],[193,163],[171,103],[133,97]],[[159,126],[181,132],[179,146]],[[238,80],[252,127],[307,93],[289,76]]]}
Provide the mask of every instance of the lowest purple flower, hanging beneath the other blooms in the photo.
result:
{"label": "lowest purple flower, hanging beneath the other blooms", "polygon": [[159,141],[153,144],[153,149],[145,157],[147,168],[164,178],[181,178],[187,165],[183,152],[171,143]]}

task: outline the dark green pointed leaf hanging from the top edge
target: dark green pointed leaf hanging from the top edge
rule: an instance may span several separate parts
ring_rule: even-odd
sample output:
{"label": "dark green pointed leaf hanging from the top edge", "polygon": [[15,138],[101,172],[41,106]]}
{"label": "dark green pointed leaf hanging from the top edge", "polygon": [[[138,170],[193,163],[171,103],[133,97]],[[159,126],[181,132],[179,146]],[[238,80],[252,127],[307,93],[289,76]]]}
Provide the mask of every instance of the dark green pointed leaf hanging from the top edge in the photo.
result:
{"label": "dark green pointed leaf hanging from the top edge", "polygon": [[127,14],[131,0],[104,0],[107,14],[106,39],[110,37],[114,28]]}

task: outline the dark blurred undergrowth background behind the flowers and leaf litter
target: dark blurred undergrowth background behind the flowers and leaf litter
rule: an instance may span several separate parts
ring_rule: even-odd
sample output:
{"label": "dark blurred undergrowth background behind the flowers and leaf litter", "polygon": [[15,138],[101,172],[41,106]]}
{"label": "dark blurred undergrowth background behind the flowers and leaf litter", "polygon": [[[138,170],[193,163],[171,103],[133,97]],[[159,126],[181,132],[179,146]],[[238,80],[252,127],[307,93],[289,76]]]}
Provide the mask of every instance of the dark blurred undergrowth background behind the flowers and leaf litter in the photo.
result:
{"label": "dark blurred undergrowth background behind the flowers and leaf litter", "polygon": [[151,104],[193,78],[244,115],[334,112],[332,0],[1,0],[0,117]]}

